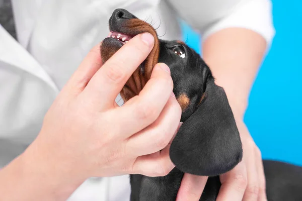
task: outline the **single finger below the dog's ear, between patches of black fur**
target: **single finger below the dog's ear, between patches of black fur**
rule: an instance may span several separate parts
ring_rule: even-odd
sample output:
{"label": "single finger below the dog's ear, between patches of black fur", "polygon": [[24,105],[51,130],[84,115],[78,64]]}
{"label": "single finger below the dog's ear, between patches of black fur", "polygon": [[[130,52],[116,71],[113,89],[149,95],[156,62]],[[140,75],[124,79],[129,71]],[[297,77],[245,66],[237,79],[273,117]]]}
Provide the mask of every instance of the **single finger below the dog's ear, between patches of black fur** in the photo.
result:
{"label": "single finger below the dog's ear, between patches of black fur", "polygon": [[185,173],[181,180],[176,201],[199,200],[207,179],[207,176],[197,176]]}

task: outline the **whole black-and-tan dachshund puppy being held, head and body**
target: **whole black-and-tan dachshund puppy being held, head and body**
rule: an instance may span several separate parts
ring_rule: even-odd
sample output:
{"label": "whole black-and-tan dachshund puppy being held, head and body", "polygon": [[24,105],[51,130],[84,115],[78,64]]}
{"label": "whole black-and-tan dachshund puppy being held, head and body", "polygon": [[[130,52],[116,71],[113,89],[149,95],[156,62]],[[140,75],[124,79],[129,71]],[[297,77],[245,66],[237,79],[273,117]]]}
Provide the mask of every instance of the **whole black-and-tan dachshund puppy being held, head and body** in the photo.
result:
{"label": "whole black-and-tan dachshund puppy being held, head and body", "polygon": [[[158,62],[171,69],[173,92],[182,108],[179,129],[170,148],[175,168],[163,177],[130,175],[132,201],[175,200],[184,173],[209,176],[200,200],[215,200],[219,175],[242,160],[242,143],[223,88],[217,86],[210,68],[181,41],[159,40],[155,29],[128,11],[117,9],[109,19],[111,37],[104,39],[101,56],[106,62],[133,36],[149,32],[155,46],[121,91],[125,100],[137,95]],[[302,168],[264,161],[268,200],[302,200]]]}

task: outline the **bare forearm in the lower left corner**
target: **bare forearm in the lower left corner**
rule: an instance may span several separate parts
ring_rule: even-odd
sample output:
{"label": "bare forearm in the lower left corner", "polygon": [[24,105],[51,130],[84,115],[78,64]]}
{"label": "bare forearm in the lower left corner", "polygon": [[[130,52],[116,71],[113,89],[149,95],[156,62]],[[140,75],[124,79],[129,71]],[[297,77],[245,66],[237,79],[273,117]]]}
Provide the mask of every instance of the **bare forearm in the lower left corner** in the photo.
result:
{"label": "bare forearm in the lower left corner", "polygon": [[47,161],[47,154],[35,152],[30,147],[0,170],[0,200],[66,200],[81,184],[70,184],[61,168],[50,166],[55,163]]}

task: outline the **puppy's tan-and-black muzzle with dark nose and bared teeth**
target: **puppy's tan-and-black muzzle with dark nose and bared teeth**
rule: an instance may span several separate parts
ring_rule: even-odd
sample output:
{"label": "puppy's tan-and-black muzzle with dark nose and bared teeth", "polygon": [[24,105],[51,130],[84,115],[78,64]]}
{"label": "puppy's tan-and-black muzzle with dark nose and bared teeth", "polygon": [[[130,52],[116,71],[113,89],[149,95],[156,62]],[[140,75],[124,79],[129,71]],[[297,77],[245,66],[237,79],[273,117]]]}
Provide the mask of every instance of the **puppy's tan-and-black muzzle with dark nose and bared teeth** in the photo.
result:
{"label": "puppy's tan-and-black muzzle with dark nose and bared teeth", "polygon": [[124,9],[116,9],[109,19],[110,37],[105,38],[101,45],[103,63],[117,52],[134,36],[148,32],[155,38],[154,48],[140,66],[133,72],[122,91],[121,96],[125,101],[138,95],[147,80],[150,78],[153,67],[158,63],[159,39],[155,29],[148,23],[137,19]]}

